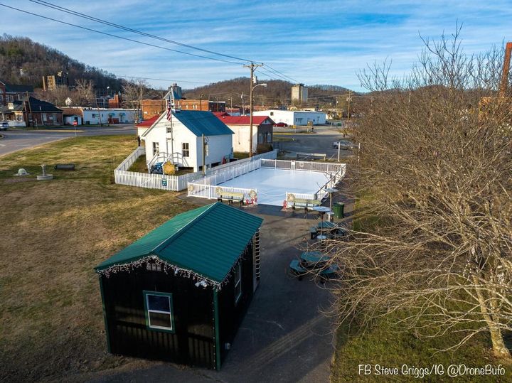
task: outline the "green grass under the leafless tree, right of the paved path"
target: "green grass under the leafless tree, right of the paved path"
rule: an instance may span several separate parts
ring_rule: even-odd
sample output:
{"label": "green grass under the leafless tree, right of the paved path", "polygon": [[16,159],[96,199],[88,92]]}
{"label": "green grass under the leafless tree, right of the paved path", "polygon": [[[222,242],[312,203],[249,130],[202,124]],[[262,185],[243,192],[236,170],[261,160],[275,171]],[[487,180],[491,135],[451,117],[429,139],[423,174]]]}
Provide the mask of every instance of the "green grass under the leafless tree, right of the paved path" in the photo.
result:
{"label": "green grass under the leafless tree, right of the paved path", "polygon": [[[356,210],[361,211],[367,207],[368,201],[375,198],[368,193],[356,202]],[[353,222],[355,230],[372,231],[376,225],[383,221],[375,216],[356,219]],[[388,318],[393,321],[393,318]],[[398,331],[386,322],[375,322],[363,333],[358,333],[357,328],[349,328],[341,325],[336,332],[336,351],[331,365],[331,382],[511,382],[512,365],[504,365],[503,361],[496,360],[491,353],[489,335],[480,334],[458,350],[438,352],[457,343],[461,335],[447,333],[439,338],[420,340],[411,331]],[[375,374],[359,374],[359,365],[371,365],[372,371],[375,365],[384,367],[432,367],[443,365],[444,375],[432,375],[415,379],[412,375],[377,376]],[[470,376],[448,377],[449,365],[466,365],[466,367],[484,367],[490,364],[494,367],[503,365],[506,374],[504,376]]]}

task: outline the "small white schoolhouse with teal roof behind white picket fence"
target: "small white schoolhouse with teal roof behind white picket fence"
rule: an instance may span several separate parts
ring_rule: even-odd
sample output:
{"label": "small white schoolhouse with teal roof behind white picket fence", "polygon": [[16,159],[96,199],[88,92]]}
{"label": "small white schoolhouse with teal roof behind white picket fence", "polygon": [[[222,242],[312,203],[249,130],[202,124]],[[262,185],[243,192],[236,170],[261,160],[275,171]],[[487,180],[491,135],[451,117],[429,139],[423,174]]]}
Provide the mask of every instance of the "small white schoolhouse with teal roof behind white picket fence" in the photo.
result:
{"label": "small white schoolhouse with teal roof behind white picket fence", "polygon": [[141,136],[146,142],[148,168],[156,161],[171,161],[178,167],[203,168],[203,135],[206,166],[216,166],[233,156],[233,131],[211,112],[179,110],[161,114]]}

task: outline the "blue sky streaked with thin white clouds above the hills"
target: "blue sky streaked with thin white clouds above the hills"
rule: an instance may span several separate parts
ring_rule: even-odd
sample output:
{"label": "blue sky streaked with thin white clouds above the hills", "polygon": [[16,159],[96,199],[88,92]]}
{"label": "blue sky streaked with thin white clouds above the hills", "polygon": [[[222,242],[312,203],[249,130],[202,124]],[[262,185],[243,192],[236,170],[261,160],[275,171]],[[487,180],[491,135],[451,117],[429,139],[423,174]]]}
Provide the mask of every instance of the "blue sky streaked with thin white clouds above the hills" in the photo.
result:
{"label": "blue sky streaked with thin white clouds above the hills", "polygon": [[[438,38],[443,31],[452,33],[457,20],[463,24],[466,53],[480,53],[493,44],[512,40],[512,1],[48,1],[181,43],[267,63],[307,85],[340,85],[353,90],[362,90],[358,70],[375,60],[392,59],[393,75],[409,72],[422,49],[419,33]],[[0,4],[188,50],[28,0],[0,0]],[[122,41],[2,6],[0,15],[0,33],[28,36],[119,76],[176,80],[189,88],[248,75],[241,64],[218,63]],[[269,78],[265,73],[258,77]],[[275,74],[272,77],[279,78]],[[169,81],[149,83],[154,87],[169,85]]]}

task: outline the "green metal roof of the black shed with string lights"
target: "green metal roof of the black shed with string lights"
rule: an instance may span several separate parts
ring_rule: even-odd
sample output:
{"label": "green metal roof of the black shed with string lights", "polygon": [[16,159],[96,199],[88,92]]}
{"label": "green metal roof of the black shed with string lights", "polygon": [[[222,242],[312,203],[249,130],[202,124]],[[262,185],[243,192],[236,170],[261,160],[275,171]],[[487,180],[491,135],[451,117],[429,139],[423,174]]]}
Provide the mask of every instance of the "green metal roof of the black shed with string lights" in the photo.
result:
{"label": "green metal roof of the black shed with string lights", "polygon": [[97,271],[154,255],[215,282],[228,276],[262,219],[213,203],[183,212],[95,267]]}

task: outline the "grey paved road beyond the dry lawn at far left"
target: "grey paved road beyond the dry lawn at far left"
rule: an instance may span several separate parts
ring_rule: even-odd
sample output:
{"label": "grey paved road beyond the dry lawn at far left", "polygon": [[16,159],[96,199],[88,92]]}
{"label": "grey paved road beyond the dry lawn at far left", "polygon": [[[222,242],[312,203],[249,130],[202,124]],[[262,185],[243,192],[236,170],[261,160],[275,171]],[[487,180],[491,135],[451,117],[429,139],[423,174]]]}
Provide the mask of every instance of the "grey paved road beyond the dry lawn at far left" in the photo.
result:
{"label": "grey paved road beyond the dry lawn at far left", "polygon": [[[75,136],[73,127],[55,129],[9,129],[1,132],[3,139],[0,139],[0,156],[13,153],[21,149],[28,149],[33,146],[48,144],[48,142],[67,139]],[[115,126],[78,127],[77,136],[107,136],[114,134],[133,134],[133,124],[119,124]]]}

